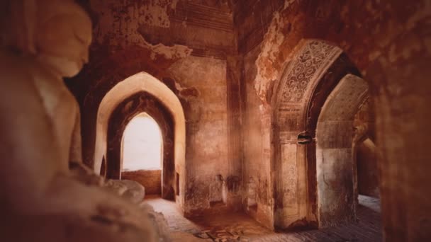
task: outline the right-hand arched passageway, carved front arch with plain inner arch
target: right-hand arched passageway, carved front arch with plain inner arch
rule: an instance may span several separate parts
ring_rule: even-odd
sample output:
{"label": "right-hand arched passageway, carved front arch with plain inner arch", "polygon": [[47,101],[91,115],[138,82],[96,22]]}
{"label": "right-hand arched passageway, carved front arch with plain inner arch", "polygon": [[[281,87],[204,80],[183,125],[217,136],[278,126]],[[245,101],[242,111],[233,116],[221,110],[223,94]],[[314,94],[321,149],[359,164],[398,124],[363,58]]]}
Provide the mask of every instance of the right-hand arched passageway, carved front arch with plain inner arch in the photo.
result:
{"label": "right-hand arched passageway, carved front arch with plain inner arch", "polygon": [[342,50],[302,40],[272,96],[274,226],[356,219],[354,117],[368,84]]}

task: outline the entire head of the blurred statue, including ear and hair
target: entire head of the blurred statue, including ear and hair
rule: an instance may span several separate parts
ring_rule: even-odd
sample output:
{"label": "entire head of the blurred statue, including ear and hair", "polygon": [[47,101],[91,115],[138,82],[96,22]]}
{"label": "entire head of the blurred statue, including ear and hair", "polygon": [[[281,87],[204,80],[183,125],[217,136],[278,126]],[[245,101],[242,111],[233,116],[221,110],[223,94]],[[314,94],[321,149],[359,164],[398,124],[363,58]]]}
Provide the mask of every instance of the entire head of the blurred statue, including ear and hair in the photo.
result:
{"label": "entire head of the blurred statue, including ear and hair", "polygon": [[3,5],[9,13],[1,21],[1,45],[36,57],[58,76],[72,77],[88,62],[91,20],[73,0],[9,0]]}

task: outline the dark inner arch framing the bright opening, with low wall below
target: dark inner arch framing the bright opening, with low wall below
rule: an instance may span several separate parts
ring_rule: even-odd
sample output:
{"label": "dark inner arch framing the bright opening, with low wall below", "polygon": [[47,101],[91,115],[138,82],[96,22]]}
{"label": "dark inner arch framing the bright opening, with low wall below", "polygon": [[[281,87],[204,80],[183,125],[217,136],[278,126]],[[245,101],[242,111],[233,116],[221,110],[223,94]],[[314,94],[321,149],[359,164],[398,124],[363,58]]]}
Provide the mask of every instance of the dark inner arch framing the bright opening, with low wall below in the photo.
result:
{"label": "dark inner arch framing the bright opening, with low wall below", "polygon": [[[162,169],[153,171],[123,171],[124,160],[123,146],[126,127],[146,113],[152,117],[150,125],[159,130],[161,134],[163,161],[159,166]],[[148,123],[147,123],[148,125]],[[108,125],[108,149],[106,156],[107,177],[111,179],[135,180],[144,185],[146,194],[162,195],[162,197],[174,200],[175,188],[175,163],[174,163],[174,120],[167,108],[150,93],[141,91],[130,98],[123,100],[111,114]],[[158,131],[155,130],[155,133]],[[136,132],[135,134],[140,134]],[[146,137],[149,137],[147,134]],[[160,139],[160,138],[159,138]],[[154,140],[152,140],[154,142]],[[157,148],[160,151],[159,148]],[[142,151],[142,149],[140,149]],[[143,155],[143,154],[141,154]],[[145,178],[147,177],[147,178]],[[160,188],[159,180],[162,179]]]}

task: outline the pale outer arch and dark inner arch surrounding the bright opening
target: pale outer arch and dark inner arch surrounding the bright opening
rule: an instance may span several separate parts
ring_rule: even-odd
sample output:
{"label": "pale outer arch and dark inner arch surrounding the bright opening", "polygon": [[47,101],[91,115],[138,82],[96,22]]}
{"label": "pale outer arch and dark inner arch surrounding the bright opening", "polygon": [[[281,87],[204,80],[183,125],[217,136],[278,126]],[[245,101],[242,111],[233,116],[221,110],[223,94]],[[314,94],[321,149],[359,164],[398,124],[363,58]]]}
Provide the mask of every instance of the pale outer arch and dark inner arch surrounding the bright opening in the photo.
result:
{"label": "pale outer arch and dark inner arch surrounding the bright opening", "polygon": [[185,119],[175,94],[150,74],[141,72],[119,82],[99,105],[96,123],[94,171],[106,160],[107,178],[121,178],[121,141],[126,125],[147,113],[160,127],[163,139],[162,197],[184,204]]}

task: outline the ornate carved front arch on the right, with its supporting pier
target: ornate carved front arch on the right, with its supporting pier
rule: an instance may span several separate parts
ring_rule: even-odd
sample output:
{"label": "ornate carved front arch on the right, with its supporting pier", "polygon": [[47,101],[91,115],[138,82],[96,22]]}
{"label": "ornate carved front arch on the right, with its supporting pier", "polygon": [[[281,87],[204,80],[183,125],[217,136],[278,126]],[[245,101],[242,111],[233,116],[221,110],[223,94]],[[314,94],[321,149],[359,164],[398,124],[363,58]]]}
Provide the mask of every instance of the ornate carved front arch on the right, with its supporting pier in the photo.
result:
{"label": "ornate carved front arch on the right, with its supporting pier", "polygon": [[315,127],[329,93],[350,73],[359,75],[339,47],[320,40],[301,40],[274,85],[275,227],[318,226]]}

